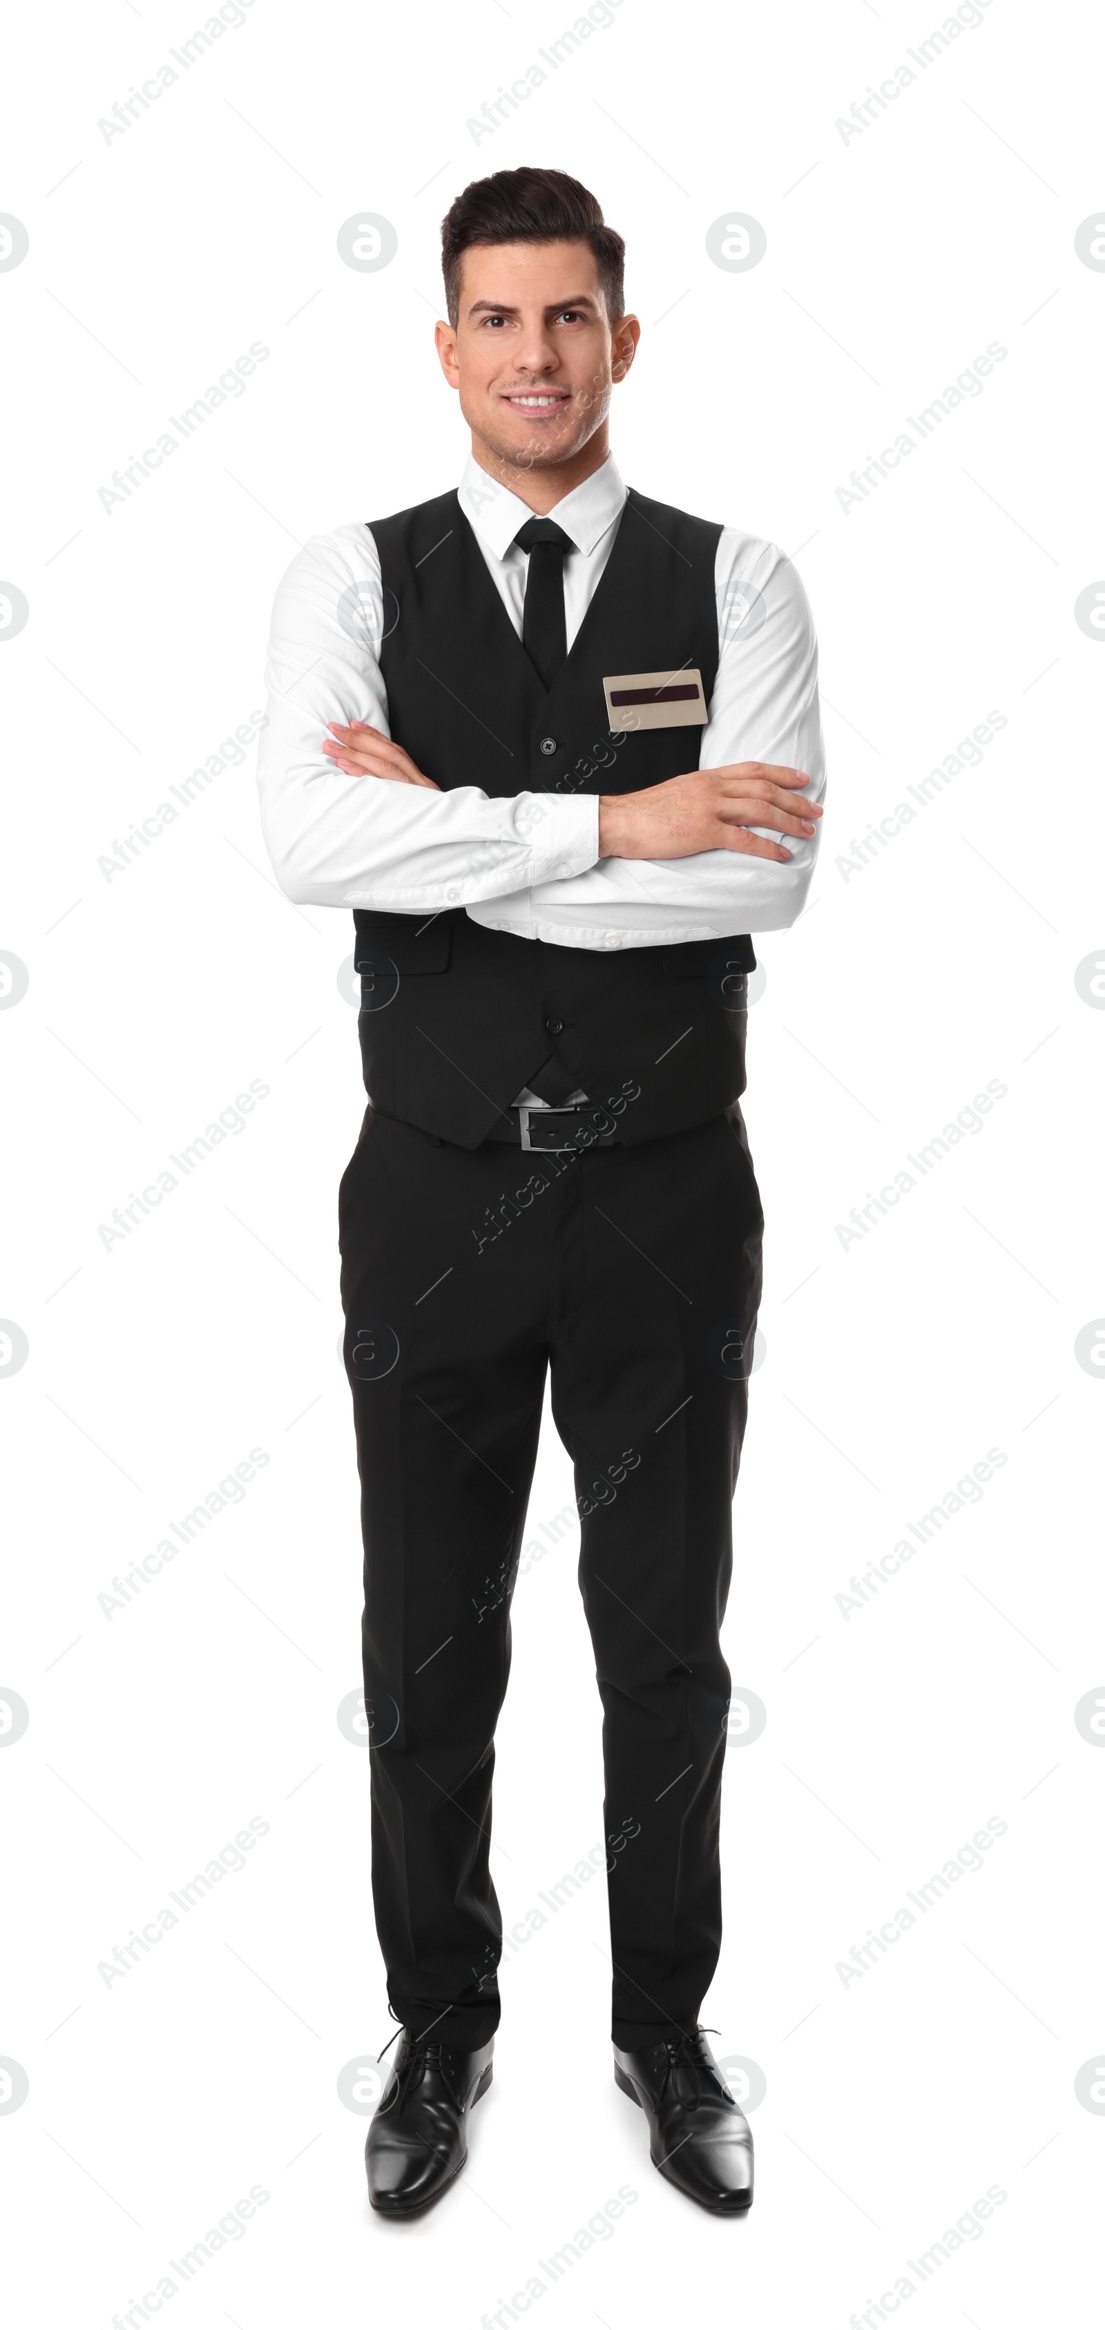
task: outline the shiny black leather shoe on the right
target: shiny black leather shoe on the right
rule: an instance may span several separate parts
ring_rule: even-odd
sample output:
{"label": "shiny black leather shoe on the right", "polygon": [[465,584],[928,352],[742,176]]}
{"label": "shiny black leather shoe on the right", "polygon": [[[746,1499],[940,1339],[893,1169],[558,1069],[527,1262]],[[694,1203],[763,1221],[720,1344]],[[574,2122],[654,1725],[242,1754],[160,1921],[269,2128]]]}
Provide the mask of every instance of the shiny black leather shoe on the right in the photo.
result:
{"label": "shiny black leather shoe on the right", "polygon": [[653,2165],[702,2209],[737,2216],[753,2204],[753,2132],[702,2036],[613,2050],[622,2095],[643,2106]]}

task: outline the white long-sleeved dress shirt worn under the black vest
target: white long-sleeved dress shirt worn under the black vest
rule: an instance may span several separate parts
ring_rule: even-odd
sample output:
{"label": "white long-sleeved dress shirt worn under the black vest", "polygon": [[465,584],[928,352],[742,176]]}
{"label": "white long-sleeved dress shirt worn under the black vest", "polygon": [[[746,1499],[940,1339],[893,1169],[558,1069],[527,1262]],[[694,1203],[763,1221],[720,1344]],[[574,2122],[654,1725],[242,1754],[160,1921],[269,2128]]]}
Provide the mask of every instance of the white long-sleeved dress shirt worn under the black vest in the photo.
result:
{"label": "white long-sleeved dress shirt worn under the black vest", "polygon": [[[471,457],[459,503],[492,582],[522,636],[529,557],[515,534],[534,513]],[[580,629],[613,550],[625,485],[613,459],[557,501],[566,643]],[[716,557],[718,676],[697,762],[765,760],[809,771],[825,790],[818,655],[807,594],[790,559],[737,527]],[[394,608],[392,608],[394,620]],[[599,860],[594,795],[478,785],[429,792],[380,776],[343,776],[324,755],[326,722],[368,720],[392,734],[380,673],[385,638],[380,557],[366,524],[315,534],[273,606],[268,725],[256,783],[275,876],[303,906],[375,906],[434,916],[464,906],[473,923],[520,939],[597,951],[786,930],[804,906],[818,836],[786,836],[790,862],[734,850],[697,857]],[[688,769],[695,767],[688,732]],[[436,783],[445,769],[424,769]],[[821,822],[821,820],[818,820]],[[767,827],[755,827],[779,841]]]}

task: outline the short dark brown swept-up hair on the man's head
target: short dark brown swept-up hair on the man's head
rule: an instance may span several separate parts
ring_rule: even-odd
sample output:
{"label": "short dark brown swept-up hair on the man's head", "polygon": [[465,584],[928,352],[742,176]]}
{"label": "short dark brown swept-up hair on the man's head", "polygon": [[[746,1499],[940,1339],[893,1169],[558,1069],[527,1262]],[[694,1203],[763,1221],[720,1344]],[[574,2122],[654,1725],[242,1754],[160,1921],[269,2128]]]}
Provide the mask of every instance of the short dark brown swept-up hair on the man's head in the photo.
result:
{"label": "short dark brown swept-up hair on the man's head", "polygon": [[606,317],[625,312],[625,242],[601,205],[564,170],[497,170],[476,177],[441,221],[441,273],[450,324],[459,317],[462,256],[473,242],[590,242]]}

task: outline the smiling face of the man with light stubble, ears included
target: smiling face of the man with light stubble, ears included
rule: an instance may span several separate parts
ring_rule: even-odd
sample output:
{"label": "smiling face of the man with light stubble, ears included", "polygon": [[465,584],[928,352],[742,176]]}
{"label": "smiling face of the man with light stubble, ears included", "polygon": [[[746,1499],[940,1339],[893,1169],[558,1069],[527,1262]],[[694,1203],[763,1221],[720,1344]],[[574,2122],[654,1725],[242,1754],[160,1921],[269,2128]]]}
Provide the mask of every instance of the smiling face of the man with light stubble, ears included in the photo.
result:
{"label": "smiling face of the man with light stubble, ears included", "polygon": [[457,329],[438,324],[445,380],[476,438],[513,468],[555,468],[606,422],[641,326],[611,326],[587,242],[476,242]]}

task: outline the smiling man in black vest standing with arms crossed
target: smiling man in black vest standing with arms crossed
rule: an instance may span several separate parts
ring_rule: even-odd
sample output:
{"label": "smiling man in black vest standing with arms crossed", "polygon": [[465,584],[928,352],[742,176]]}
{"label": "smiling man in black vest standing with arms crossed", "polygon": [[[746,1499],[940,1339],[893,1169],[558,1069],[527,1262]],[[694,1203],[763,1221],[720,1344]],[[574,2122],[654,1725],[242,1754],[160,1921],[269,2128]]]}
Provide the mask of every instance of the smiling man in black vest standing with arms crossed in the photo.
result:
{"label": "smiling man in black vest standing with arms crossed", "polygon": [[[604,1703],[615,2081],[674,2186],[716,2211],[753,2195],[699,2006],[760,1300],[748,932],[809,888],[816,645],[779,550],[622,487],[622,256],[559,170],[452,203],[459,492],[317,536],[273,615],[266,843],[291,899],[354,909],[361,974],[338,1216],[401,2022],[366,2160],[394,2216],[462,2172],[492,2078],[492,1743],[546,1368]],[[727,398],[688,347],[676,443],[706,405],[732,445]]]}

